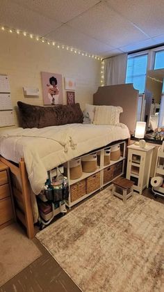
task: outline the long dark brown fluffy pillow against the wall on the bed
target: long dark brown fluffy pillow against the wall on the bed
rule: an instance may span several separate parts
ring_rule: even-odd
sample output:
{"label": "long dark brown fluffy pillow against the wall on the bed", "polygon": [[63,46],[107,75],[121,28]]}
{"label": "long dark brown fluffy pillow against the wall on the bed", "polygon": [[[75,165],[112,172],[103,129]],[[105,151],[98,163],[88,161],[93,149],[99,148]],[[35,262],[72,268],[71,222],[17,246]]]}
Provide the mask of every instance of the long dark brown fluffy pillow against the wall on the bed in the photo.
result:
{"label": "long dark brown fluffy pillow against the wall on the bed", "polygon": [[40,107],[17,102],[22,120],[22,128],[44,128],[51,125],[83,123],[83,113],[79,103],[59,105],[56,107]]}

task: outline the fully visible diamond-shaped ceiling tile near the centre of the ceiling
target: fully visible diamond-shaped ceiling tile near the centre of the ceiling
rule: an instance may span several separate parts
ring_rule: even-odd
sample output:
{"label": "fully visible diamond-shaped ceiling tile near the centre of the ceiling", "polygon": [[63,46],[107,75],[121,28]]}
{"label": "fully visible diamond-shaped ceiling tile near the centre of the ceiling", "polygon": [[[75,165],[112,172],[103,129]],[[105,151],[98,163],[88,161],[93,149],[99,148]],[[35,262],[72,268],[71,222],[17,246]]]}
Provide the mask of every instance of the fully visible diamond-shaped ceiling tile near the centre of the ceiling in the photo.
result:
{"label": "fully visible diamond-shaped ceiling tile near the centre of the ceiling", "polygon": [[113,47],[147,38],[144,33],[126,22],[113,9],[110,10],[104,2],[76,17],[69,22],[69,25]]}

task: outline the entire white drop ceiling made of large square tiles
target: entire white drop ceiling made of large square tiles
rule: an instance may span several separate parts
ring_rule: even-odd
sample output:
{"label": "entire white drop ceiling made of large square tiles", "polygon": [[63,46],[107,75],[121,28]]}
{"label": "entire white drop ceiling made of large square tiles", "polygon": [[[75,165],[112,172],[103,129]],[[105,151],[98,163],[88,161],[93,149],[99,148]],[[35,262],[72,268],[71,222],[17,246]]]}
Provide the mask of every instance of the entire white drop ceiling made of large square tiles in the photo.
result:
{"label": "entire white drop ceiling made of large square tiles", "polygon": [[102,57],[164,43],[163,0],[1,0],[0,24]]}

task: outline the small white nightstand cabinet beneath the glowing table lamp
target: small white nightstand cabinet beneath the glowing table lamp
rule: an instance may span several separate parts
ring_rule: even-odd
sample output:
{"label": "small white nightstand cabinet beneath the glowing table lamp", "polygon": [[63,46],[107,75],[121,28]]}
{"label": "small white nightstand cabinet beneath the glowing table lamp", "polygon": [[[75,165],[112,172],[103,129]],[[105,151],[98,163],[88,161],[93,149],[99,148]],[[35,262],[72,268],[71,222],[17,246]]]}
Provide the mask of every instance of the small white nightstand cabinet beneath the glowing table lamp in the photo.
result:
{"label": "small white nightstand cabinet beneath the glowing table lamp", "polygon": [[133,190],[142,194],[142,190],[149,186],[149,175],[154,146],[146,145],[145,148],[130,145],[128,148],[128,160],[126,178],[134,182]]}

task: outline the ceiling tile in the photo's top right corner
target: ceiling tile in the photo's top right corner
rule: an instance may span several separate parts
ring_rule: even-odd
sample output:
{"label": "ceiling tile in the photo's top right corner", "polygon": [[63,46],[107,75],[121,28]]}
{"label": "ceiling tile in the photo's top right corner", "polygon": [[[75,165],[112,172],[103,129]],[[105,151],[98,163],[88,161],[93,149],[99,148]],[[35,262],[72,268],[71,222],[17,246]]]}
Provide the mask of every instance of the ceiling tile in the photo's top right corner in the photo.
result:
{"label": "ceiling tile in the photo's top right corner", "polygon": [[154,37],[163,33],[163,0],[106,0],[108,5],[126,20],[133,22],[139,29]]}

